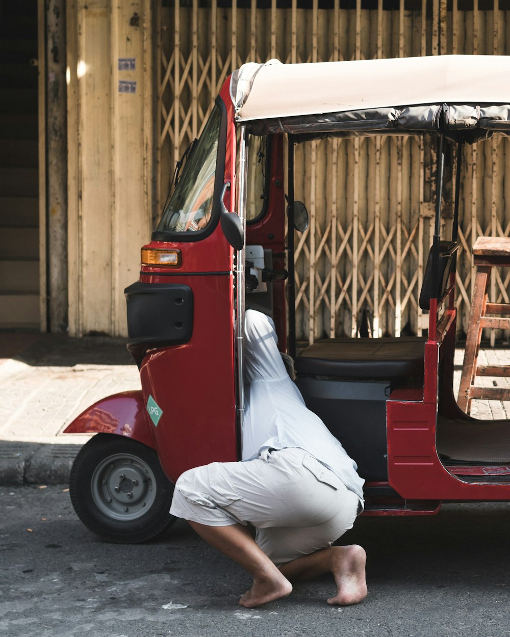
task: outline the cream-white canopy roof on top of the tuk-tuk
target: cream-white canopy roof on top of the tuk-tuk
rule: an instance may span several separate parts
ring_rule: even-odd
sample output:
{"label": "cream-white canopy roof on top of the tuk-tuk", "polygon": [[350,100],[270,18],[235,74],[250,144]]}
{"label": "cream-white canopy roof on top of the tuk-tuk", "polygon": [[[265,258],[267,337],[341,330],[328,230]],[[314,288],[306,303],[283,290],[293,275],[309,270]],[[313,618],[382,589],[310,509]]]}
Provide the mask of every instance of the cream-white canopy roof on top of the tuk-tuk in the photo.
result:
{"label": "cream-white canopy roof on top of the tuk-tuk", "polygon": [[250,62],[233,73],[231,98],[238,122],[416,104],[510,104],[510,56]]}

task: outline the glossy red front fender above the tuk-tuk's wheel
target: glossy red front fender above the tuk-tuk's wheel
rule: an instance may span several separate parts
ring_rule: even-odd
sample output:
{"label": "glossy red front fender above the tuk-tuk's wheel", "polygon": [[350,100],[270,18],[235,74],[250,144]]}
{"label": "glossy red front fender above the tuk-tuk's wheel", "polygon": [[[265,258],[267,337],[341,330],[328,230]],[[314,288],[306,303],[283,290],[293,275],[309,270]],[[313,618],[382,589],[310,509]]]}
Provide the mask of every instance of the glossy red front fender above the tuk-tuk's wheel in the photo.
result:
{"label": "glossy red front fender above the tuk-tuk's wheel", "polygon": [[107,433],[156,448],[142,391],[121,392],[92,404],[66,427],[65,434]]}

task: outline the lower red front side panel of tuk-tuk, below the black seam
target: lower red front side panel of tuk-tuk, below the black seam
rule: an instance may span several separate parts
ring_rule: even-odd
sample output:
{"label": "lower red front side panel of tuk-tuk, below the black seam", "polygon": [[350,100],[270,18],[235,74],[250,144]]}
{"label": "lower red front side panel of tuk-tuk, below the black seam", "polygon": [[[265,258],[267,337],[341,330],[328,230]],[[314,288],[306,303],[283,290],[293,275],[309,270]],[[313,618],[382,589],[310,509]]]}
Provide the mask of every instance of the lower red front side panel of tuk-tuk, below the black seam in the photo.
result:
{"label": "lower red front side panel of tuk-tuk, below the black seam", "polygon": [[159,461],[175,481],[192,467],[237,460],[232,275],[182,276],[193,289],[194,322],[184,345],[149,352],[140,376],[163,415],[153,426]]}

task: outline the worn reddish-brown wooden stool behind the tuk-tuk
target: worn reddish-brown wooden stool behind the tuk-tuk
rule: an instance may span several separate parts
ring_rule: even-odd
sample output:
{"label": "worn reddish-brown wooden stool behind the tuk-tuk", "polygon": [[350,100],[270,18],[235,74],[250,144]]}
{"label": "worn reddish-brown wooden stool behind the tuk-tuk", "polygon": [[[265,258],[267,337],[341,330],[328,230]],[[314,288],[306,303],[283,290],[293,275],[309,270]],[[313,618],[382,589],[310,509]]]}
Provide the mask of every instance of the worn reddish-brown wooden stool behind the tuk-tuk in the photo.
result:
{"label": "worn reddish-brown wooden stool behind the tuk-tuk", "polygon": [[491,268],[494,266],[510,267],[510,239],[479,237],[473,246],[473,255],[476,278],[457,401],[458,406],[465,413],[469,413],[471,410],[472,398],[510,400],[510,387],[507,389],[503,387],[475,387],[473,384],[476,376],[510,376],[510,366],[477,366],[483,328],[510,329],[510,318],[486,316],[487,314],[510,315],[509,304],[489,303],[487,300]]}

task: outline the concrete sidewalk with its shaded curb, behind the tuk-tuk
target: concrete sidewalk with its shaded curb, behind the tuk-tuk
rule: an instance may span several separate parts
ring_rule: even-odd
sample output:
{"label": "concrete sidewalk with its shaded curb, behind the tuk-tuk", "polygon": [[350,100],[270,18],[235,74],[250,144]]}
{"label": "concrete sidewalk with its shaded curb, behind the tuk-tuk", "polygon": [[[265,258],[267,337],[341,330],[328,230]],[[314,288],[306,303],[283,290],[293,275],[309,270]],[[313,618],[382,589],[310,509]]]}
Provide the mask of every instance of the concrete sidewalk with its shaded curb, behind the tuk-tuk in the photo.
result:
{"label": "concrete sidewalk with its shaded curb, behind the tuk-tuk", "polygon": [[[455,392],[462,360],[458,349]],[[510,365],[510,349],[483,350],[479,362]],[[497,384],[508,387],[510,378]],[[62,431],[92,403],[131,389],[140,389],[140,376],[125,340],[0,333],[0,485],[67,483],[90,436]],[[510,403],[473,401],[471,415],[510,419]]]}

